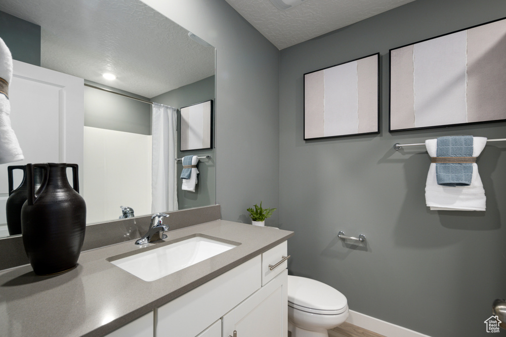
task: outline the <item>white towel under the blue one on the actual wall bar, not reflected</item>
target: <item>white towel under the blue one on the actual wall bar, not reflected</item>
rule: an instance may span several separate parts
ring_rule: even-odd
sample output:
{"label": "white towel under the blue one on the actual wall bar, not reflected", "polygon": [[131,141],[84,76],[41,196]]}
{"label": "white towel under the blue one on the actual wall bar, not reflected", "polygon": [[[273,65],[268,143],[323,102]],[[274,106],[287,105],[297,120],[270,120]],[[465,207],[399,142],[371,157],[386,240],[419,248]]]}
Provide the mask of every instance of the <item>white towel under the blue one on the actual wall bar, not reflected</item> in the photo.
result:
{"label": "white towel under the blue one on the actual wall bar, not reflected", "polygon": [[[473,157],[478,157],[485,148],[485,137],[473,137]],[[437,139],[425,142],[431,157],[437,153]],[[431,163],[425,186],[425,201],[431,210],[485,210],[485,190],[473,163],[473,178],[469,186],[442,186],[436,181],[436,163]]]}

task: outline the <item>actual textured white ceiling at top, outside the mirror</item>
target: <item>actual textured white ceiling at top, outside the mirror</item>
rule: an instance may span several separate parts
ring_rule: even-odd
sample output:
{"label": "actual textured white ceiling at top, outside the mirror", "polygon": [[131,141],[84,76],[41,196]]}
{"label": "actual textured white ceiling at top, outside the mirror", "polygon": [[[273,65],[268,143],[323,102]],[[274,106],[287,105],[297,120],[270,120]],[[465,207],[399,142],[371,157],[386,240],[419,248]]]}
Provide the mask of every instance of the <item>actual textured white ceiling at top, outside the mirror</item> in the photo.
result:
{"label": "actual textured white ceiling at top, outside the mirror", "polygon": [[226,0],[279,50],[414,0],[306,0],[280,11],[270,0]]}

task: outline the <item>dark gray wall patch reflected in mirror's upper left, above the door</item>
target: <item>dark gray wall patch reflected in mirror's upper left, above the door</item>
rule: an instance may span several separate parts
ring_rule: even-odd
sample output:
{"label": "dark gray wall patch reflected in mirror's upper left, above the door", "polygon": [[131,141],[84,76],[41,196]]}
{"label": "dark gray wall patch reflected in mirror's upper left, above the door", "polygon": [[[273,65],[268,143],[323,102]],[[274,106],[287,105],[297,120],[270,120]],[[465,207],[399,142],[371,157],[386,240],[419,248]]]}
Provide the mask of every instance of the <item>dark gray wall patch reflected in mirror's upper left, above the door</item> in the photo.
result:
{"label": "dark gray wall patch reflected in mirror's upper left, above the door", "polygon": [[40,26],[0,11],[0,37],[12,58],[40,66]]}

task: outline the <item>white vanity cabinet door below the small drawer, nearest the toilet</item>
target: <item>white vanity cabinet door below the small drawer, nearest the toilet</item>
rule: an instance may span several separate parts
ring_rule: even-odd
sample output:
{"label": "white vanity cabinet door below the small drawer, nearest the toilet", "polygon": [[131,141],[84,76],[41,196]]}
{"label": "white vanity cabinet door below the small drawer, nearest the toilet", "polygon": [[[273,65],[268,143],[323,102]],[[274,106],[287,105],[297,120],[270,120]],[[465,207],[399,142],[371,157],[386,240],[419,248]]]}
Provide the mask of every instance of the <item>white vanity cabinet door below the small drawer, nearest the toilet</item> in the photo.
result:
{"label": "white vanity cabinet door below the small drawer, nearest the toilet", "polygon": [[223,337],[288,335],[288,271],[285,269],[222,318]]}

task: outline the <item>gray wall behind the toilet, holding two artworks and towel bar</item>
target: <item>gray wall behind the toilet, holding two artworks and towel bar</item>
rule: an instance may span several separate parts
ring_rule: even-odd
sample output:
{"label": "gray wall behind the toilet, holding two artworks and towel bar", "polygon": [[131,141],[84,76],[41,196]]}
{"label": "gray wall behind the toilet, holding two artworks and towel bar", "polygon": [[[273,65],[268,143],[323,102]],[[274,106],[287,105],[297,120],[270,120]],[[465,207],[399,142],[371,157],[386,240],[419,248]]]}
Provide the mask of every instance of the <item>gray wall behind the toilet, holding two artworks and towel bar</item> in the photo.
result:
{"label": "gray wall behind the toilet, holding two artworks and towel bar", "polygon": [[[352,310],[421,333],[487,335],[493,300],[506,298],[506,144],[479,157],[487,210],[469,213],[430,211],[425,148],[392,146],[504,138],[506,123],[389,133],[389,49],[504,16],[504,0],[417,0],[281,51],[279,213],[280,227],[295,231],[292,274],[339,289]],[[376,52],[381,134],[305,142],[303,74]],[[340,230],[367,241],[341,241]]]}

